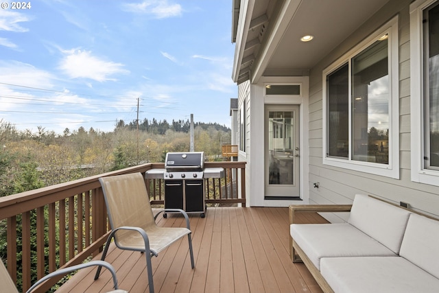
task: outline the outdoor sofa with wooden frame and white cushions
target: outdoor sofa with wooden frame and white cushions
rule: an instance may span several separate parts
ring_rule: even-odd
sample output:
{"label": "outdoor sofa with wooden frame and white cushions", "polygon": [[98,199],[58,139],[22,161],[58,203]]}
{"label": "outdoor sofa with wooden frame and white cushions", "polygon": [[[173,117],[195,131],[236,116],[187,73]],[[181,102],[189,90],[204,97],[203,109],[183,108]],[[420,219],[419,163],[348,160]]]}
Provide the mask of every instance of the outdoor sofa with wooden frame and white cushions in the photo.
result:
{"label": "outdoor sofa with wooden frame and white cushions", "polygon": [[[294,224],[299,211],[351,211],[340,224]],[[439,292],[439,221],[357,194],[352,205],[291,205],[291,257],[324,292]]]}

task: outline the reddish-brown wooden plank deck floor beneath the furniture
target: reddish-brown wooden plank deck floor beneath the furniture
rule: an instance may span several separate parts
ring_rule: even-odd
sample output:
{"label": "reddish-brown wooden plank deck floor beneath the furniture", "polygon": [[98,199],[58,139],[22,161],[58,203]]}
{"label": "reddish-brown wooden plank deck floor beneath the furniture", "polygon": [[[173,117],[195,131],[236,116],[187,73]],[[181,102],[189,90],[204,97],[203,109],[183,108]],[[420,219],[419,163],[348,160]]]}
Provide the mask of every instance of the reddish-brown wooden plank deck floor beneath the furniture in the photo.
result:
{"label": "reddish-brown wooden plank deck floor beneath the furniture", "polygon": [[[206,218],[189,215],[195,269],[191,269],[187,238],[153,257],[154,289],[168,292],[322,292],[302,263],[289,259],[287,208],[217,207]],[[162,217],[161,226],[184,226],[178,215]],[[316,214],[303,214],[300,222],[324,222]],[[106,261],[117,270],[119,288],[149,292],[145,257],[113,245]],[[57,292],[107,292],[110,274],[80,270]]]}

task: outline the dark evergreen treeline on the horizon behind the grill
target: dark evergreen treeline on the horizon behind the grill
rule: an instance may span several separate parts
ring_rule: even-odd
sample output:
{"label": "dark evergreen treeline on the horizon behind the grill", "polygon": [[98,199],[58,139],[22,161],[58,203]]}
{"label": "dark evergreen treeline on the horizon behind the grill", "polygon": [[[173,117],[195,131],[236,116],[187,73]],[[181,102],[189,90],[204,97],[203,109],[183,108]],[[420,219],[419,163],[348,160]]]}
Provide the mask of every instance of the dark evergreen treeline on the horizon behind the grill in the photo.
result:
{"label": "dark evergreen treeline on the horizon behind the grill", "polygon": [[[213,128],[218,131],[224,131],[228,132],[230,131],[230,128],[219,125],[217,123],[203,123],[203,122],[194,122],[193,127],[201,127],[203,130],[208,130],[209,128]],[[129,124],[126,124],[125,121],[119,120],[117,121],[116,128],[129,128],[130,130],[137,129],[137,120],[134,119]],[[189,132],[191,128],[191,122],[189,119],[186,121],[180,119],[178,121],[175,121],[172,119],[172,122],[169,124],[166,119],[157,121],[155,118],[152,118],[152,120],[149,119],[143,119],[143,121],[139,120],[139,130],[146,131],[152,134],[165,134],[167,130],[174,130],[175,132]]]}

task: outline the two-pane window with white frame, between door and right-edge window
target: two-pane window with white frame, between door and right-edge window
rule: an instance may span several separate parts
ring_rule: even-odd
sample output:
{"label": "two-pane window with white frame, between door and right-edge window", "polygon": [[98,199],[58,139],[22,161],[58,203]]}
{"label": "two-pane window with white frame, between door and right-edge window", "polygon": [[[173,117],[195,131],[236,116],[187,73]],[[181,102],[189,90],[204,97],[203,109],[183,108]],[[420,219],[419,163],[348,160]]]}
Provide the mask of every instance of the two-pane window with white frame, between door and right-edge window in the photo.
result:
{"label": "two-pane window with white frame, between door and right-edge window", "polygon": [[324,71],[325,164],[399,177],[397,56],[394,19]]}

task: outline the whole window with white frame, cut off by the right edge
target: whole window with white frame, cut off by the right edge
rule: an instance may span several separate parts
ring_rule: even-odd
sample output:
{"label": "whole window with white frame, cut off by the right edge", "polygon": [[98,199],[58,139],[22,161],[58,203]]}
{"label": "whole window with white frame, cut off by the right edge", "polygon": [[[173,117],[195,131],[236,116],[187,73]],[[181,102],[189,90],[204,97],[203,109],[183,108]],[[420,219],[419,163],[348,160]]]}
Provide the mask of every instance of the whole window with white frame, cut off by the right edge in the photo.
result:
{"label": "whole window with white frame, cut off by the right edge", "polygon": [[412,180],[439,185],[439,1],[410,5]]}

